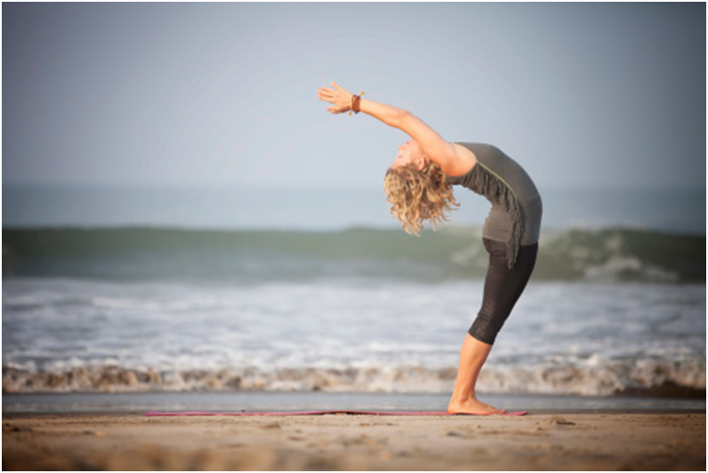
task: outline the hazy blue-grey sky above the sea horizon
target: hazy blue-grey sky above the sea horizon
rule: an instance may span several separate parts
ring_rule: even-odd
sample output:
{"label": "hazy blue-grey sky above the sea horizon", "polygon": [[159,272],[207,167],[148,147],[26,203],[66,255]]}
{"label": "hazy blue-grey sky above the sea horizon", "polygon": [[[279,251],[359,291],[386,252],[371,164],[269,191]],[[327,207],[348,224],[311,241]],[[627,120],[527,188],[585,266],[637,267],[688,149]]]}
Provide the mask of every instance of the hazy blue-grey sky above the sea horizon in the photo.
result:
{"label": "hazy blue-grey sky above the sea horizon", "polygon": [[705,187],[705,4],[3,3],[3,182],[380,187],[334,80],[543,187]]}

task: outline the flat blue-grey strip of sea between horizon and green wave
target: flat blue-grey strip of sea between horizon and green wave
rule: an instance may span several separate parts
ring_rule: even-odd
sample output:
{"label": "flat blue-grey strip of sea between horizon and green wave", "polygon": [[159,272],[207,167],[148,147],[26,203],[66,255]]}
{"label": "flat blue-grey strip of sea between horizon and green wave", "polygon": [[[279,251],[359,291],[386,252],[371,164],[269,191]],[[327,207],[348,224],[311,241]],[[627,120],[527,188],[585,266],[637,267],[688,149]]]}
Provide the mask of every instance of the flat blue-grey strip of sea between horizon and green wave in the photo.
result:
{"label": "flat blue-grey strip of sea between horizon and green wave", "polygon": [[[705,188],[539,188],[544,228],[706,233]],[[455,192],[450,218],[479,226],[489,204]],[[333,230],[400,228],[379,188],[197,188],[3,183],[3,228],[125,227]]]}

